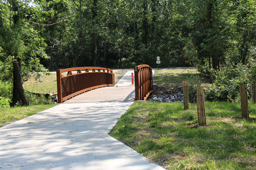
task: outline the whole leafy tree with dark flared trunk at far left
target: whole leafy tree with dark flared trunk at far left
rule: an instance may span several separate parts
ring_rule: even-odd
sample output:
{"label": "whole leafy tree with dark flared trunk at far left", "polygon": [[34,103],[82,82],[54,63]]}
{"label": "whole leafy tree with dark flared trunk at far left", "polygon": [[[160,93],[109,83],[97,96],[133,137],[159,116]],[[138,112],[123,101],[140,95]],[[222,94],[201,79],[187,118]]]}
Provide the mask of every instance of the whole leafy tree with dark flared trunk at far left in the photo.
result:
{"label": "whole leafy tree with dark flared trunk at far left", "polygon": [[[22,76],[26,71],[39,71],[43,66],[39,57],[48,58],[44,52],[46,44],[38,36],[38,32],[27,22],[28,12],[33,8],[28,1],[1,2],[1,41],[3,60],[9,60],[13,66],[13,97],[11,105],[19,100],[28,105],[22,86]],[[6,62],[7,63],[7,62]]]}

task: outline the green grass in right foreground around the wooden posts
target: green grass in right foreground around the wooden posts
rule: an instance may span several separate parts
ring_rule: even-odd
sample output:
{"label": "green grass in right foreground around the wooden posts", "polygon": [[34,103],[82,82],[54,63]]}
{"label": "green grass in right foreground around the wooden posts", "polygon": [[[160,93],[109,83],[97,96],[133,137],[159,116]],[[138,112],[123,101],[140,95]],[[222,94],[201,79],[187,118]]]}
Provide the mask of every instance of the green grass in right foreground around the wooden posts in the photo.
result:
{"label": "green grass in right foreground around the wooden posts", "polygon": [[[238,118],[240,104],[205,106],[208,126],[191,129],[195,104],[184,111],[183,103],[137,101],[110,135],[168,169],[255,169],[255,121]],[[256,104],[249,112],[255,118]]]}

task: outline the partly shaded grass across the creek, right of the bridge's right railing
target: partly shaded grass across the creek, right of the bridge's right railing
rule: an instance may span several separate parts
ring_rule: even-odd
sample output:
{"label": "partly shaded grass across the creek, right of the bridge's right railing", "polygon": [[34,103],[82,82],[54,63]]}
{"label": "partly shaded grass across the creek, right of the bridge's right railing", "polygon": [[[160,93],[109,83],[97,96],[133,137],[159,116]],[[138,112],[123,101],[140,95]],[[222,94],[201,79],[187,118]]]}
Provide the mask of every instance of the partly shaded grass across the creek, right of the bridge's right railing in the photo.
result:
{"label": "partly shaded grass across the creek, right of the bridge's right railing", "polygon": [[210,86],[209,78],[204,74],[200,74],[196,69],[161,69],[156,70],[155,83],[158,85],[162,84],[176,84],[182,86],[183,80],[188,80],[193,76],[198,75],[201,79],[203,86]]}

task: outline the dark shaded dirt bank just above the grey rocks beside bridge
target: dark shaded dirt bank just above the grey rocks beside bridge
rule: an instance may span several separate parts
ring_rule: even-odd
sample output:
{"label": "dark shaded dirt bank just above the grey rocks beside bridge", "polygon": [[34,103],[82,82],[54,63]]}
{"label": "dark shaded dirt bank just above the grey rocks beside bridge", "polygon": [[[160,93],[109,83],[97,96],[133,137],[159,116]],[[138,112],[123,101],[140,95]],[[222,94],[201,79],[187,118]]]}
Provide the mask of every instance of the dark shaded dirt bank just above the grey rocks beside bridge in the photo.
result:
{"label": "dark shaded dirt bank just above the grey rocks beside bridge", "polygon": [[178,92],[182,91],[182,86],[177,86],[175,84],[163,84],[163,85],[156,85],[156,91],[153,92],[154,95],[174,95]]}

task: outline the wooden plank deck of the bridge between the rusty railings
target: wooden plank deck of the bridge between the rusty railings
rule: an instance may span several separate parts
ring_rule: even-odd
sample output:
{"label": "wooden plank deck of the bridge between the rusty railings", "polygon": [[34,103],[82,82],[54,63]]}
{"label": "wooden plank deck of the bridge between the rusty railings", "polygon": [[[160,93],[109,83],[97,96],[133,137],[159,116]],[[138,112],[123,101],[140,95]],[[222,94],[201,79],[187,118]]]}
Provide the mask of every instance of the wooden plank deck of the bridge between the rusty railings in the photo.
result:
{"label": "wooden plank deck of the bridge between the rusty railings", "polygon": [[134,86],[102,87],[77,95],[64,103],[134,101]]}

